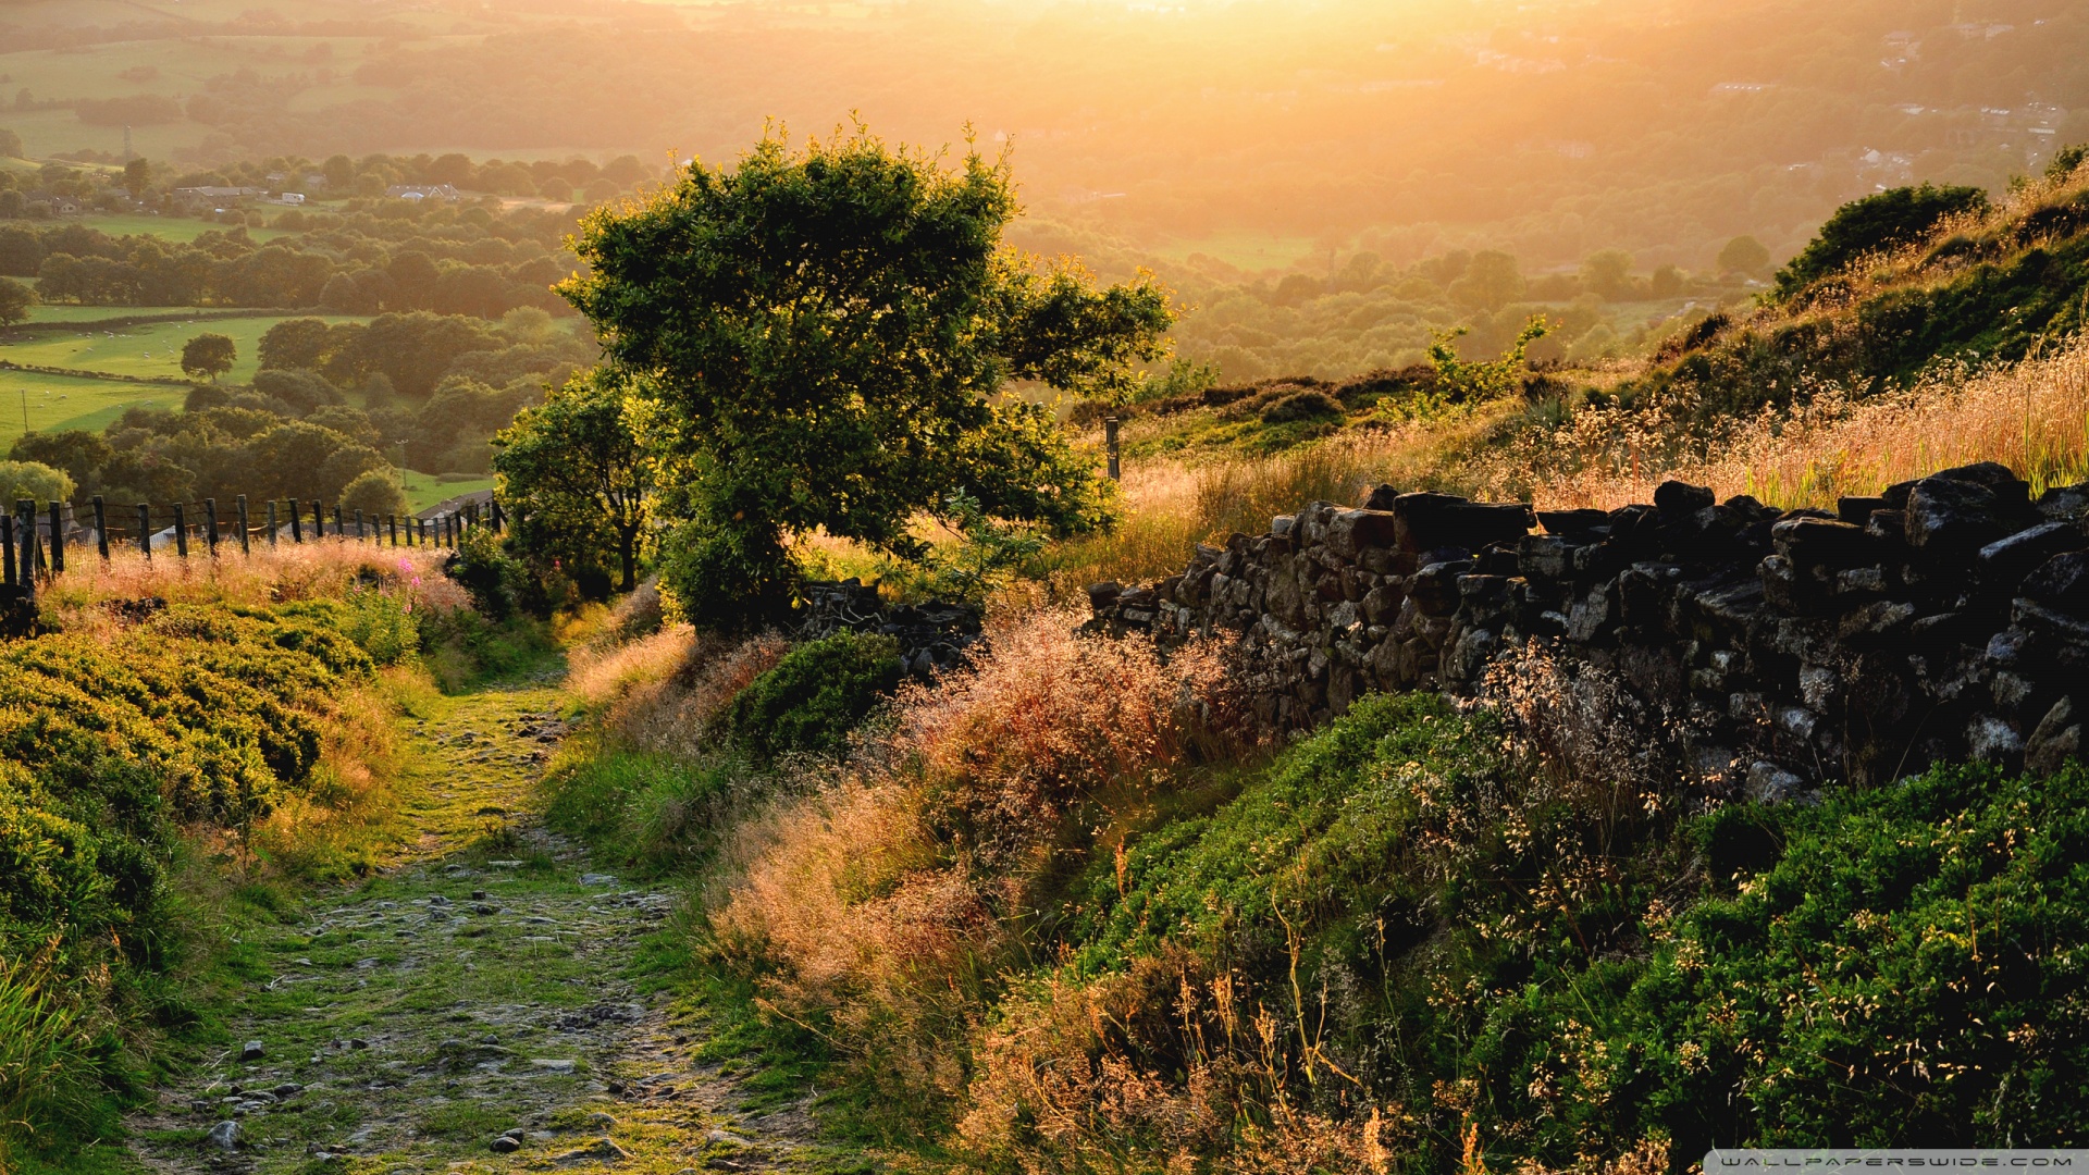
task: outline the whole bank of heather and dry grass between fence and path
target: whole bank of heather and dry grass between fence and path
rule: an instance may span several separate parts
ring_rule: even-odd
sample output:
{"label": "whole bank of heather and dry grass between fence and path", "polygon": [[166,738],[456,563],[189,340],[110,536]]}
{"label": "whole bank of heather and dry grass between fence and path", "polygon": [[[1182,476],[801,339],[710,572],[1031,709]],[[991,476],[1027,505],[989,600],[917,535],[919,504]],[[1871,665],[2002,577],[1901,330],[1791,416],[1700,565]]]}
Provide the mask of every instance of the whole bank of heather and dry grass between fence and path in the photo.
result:
{"label": "whole bank of heather and dry grass between fence and path", "polygon": [[420,625],[460,600],[347,544],[79,562],[0,648],[0,1165],[31,1169],[207,1020],[205,907],[376,866]]}

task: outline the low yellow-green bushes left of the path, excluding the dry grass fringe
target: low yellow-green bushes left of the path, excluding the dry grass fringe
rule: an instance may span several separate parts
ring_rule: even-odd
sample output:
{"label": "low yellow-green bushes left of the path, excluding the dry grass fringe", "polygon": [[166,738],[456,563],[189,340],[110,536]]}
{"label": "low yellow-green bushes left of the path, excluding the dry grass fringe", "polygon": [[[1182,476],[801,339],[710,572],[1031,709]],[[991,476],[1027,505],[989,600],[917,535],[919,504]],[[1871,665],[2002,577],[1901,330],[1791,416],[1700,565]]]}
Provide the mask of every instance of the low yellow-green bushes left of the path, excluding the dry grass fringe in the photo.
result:
{"label": "low yellow-green bushes left of the path, excluding the dry grass fringe", "polygon": [[399,640],[368,610],[173,606],[0,648],[0,1165],[111,1129],[111,1012],[136,1039],[173,1010],[180,832],[242,838],[313,784],[318,715],[372,669],[351,631]]}

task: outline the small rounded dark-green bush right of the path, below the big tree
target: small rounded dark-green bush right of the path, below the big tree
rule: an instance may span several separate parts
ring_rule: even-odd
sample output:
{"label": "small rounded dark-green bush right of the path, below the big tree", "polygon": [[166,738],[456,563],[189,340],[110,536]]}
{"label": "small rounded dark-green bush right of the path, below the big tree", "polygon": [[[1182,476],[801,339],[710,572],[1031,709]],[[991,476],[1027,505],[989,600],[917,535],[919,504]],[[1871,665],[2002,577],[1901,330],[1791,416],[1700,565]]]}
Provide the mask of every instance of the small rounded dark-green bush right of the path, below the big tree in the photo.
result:
{"label": "small rounded dark-green bush right of the path, below the big tree", "polygon": [[838,631],[783,654],[733,698],[719,725],[758,763],[785,753],[836,755],[902,673],[890,636]]}

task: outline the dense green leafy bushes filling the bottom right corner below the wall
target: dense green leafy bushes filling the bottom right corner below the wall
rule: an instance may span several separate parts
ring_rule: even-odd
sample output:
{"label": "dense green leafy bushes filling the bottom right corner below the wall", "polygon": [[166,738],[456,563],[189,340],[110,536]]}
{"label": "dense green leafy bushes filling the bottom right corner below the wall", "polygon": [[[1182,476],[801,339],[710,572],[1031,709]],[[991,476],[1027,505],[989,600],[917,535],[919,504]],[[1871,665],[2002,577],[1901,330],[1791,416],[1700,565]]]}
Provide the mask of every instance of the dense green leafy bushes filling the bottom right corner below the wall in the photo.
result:
{"label": "dense green leafy bushes filling the bottom right corner below the wall", "polygon": [[[1705,822],[1707,840],[1732,824]],[[2089,995],[2089,769],[1937,767],[1767,824],[1776,863],[1665,935],[1604,1010],[1604,1060],[1563,1085],[1565,1119],[1629,1108],[1609,1129],[1667,1129],[1682,1154],[2089,1137],[2072,1012]],[[1527,999],[1573,1022],[1575,995]]]}

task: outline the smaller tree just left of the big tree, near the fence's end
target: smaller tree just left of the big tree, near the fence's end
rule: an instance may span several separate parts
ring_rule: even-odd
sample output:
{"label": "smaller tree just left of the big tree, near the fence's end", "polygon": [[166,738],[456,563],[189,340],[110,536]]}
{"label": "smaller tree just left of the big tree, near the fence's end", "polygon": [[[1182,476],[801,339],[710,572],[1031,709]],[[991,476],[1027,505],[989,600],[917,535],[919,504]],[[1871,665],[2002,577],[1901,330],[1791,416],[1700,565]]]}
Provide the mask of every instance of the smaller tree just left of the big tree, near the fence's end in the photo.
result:
{"label": "smaller tree just left of the big tree, near the fence's end", "polygon": [[612,372],[574,376],[493,437],[501,500],[524,552],[562,567],[616,552],[623,590],[639,581],[652,466],[633,429],[631,389]]}

